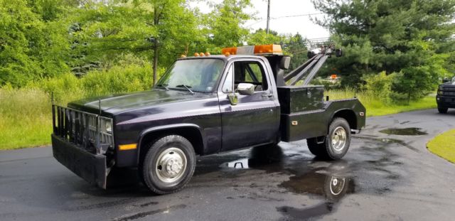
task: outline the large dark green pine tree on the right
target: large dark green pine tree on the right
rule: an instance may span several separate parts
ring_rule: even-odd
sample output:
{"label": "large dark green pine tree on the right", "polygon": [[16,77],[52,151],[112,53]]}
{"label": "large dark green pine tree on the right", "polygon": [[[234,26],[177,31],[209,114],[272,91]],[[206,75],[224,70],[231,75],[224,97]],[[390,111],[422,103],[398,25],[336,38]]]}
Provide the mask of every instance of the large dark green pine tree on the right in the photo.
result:
{"label": "large dark green pine tree on the right", "polygon": [[446,56],[441,54],[448,51],[441,49],[453,44],[454,0],[313,3],[326,14],[318,23],[329,28],[333,40],[345,50],[344,58],[331,60],[348,76],[343,78],[345,85],[357,85],[362,75],[385,70],[402,73],[397,77],[406,79],[397,80],[393,90],[412,95],[431,90],[438,77],[448,72],[449,65],[441,65]]}

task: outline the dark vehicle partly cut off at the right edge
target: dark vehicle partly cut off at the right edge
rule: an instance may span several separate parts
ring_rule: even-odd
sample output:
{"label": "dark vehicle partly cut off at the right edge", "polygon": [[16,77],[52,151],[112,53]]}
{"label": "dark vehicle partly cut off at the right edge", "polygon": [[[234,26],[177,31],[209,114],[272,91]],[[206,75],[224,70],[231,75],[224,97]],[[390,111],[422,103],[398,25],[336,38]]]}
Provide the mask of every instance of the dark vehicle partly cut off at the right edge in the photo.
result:
{"label": "dark vehicle partly cut off at the right edge", "polygon": [[438,87],[436,102],[439,113],[446,114],[449,108],[455,108],[455,77],[443,81]]}

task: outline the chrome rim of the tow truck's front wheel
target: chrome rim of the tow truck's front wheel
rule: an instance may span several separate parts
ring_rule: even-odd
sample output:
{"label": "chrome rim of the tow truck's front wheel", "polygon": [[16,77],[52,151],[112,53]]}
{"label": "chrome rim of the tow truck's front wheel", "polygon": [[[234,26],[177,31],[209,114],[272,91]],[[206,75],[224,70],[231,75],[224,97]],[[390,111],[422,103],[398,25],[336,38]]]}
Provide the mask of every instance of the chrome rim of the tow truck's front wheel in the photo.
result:
{"label": "chrome rim of the tow truck's front wheel", "polygon": [[185,153],[181,149],[171,147],[158,156],[155,165],[156,176],[164,183],[173,183],[183,177],[186,166]]}

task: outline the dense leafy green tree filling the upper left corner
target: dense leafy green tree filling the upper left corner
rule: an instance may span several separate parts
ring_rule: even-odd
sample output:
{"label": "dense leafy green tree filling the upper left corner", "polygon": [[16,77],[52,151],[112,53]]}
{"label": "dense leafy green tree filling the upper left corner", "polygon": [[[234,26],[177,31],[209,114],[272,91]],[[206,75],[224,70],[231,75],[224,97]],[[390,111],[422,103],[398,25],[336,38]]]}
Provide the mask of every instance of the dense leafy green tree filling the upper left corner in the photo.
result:
{"label": "dense leafy green tree filling the upper left corner", "polygon": [[[55,8],[64,8],[55,0]],[[0,0],[0,85],[15,87],[28,81],[67,72],[65,27],[35,10],[45,1]]]}

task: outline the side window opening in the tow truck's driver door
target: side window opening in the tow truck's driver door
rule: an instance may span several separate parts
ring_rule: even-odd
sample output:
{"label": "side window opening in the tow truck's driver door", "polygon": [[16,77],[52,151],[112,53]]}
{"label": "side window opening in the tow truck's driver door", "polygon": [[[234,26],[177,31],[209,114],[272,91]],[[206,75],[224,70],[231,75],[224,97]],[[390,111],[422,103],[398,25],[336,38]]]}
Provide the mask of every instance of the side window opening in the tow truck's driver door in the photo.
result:
{"label": "side window opening in the tow truck's driver door", "polygon": [[235,64],[235,85],[251,83],[255,85],[255,91],[268,89],[267,77],[262,65],[255,61],[237,61]]}

